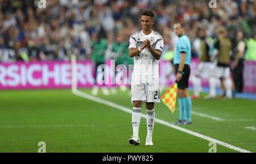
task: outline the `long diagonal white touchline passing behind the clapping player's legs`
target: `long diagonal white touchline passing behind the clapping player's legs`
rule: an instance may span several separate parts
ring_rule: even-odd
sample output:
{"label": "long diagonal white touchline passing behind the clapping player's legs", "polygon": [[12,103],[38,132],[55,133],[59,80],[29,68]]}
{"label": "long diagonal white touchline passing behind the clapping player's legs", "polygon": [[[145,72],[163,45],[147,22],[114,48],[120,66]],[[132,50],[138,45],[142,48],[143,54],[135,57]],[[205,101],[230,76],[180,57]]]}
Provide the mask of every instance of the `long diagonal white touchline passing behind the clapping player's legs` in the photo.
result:
{"label": "long diagonal white touchline passing behind the clapping player's legs", "polygon": [[[107,105],[107,106],[110,106],[110,107],[114,107],[115,109],[124,111],[124,112],[129,113],[129,114],[132,114],[132,113],[133,113],[133,111],[131,111],[131,110],[128,109],[127,107],[118,105],[118,104],[113,103],[113,102],[110,102],[110,101],[103,100],[103,99],[101,99],[101,98],[97,98],[97,97],[91,96],[90,94],[86,94],[86,93],[81,92],[81,91],[76,90],[76,89],[72,89],[72,93],[75,94],[76,96],[80,96],[80,97],[86,98],[86,99],[91,100],[91,101],[94,101],[94,102],[102,103],[103,105]],[[147,118],[147,116],[146,116],[145,114],[141,114],[141,116],[142,116],[142,118]],[[155,122],[156,122],[156,123],[163,124],[164,126],[167,126],[167,127],[174,128],[175,130],[179,130],[179,131],[181,131],[181,132],[185,132],[185,133],[188,133],[188,134],[190,134],[190,135],[199,137],[199,138],[201,138],[201,139],[208,140],[208,141],[210,141],[210,142],[213,142],[213,143],[216,143],[216,144],[225,146],[226,148],[233,149],[233,150],[236,150],[236,151],[241,152],[241,153],[251,153],[249,150],[241,149],[241,148],[238,148],[237,146],[233,146],[233,145],[224,143],[224,142],[222,142],[222,141],[213,139],[213,138],[211,138],[211,137],[201,135],[200,133],[193,132],[193,131],[191,131],[191,130],[187,130],[187,129],[185,129],[185,128],[176,126],[176,125],[174,125],[174,124],[171,124],[171,123],[169,123],[169,122],[166,122],[166,121],[161,120],[161,119],[158,119],[158,118],[155,119]]]}

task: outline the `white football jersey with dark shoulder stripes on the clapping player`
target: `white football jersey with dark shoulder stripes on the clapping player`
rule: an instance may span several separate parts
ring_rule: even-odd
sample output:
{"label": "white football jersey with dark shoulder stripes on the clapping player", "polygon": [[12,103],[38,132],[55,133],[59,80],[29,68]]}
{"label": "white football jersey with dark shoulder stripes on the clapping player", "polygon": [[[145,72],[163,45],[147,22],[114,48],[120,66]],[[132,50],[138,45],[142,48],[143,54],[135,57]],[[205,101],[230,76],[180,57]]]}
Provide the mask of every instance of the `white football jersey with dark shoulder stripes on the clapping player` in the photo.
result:
{"label": "white football jersey with dark shoulder stripes on the clapping player", "polygon": [[[163,37],[152,31],[146,35],[142,31],[136,32],[130,37],[129,48],[139,48],[143,45],[144,40],[150,40],[151,46],[154,49],[163,51]],[[159,80],[158,61],[151,55],[147,48],[144,48],[140,54],[134,57],[133,84],[154,83]]]}

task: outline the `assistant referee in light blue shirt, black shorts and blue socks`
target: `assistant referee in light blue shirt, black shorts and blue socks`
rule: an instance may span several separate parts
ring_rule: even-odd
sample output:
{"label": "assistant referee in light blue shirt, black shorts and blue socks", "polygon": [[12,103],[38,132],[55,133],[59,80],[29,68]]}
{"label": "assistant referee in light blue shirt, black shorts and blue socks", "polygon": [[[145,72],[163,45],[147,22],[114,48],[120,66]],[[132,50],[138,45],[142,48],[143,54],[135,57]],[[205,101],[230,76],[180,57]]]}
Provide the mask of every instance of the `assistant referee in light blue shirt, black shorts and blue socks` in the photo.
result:
{"label": "assistant referee in light blue shirt, black shorts and blue socks", "polygon": [[[188,93],[188,80],[191,63],[191,42],[185,34],[183,23],[174,24],[174,32],[179,37],[175,48],[174,66],[177,81],[177,97],[179,97],[180,117],[176,125],[191,125],[192,102]],[[186,116],[184,116],[186,114]]]}

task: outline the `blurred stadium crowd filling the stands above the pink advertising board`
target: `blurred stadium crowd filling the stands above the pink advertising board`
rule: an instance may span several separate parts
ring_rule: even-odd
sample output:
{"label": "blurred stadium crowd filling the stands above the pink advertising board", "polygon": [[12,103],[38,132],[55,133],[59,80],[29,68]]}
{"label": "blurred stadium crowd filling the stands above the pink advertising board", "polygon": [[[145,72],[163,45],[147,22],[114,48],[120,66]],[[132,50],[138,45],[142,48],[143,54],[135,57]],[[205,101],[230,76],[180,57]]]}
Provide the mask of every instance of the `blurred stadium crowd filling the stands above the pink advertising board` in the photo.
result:
{"label": "blurred stadium crowd filling the stands above the pink advertising board", "polygon": [[[105,57],[129,61],[125,47],[131,33],[140,28],[139,18],[144,8],[156,12],[155,30],[164,36],[164,51],[174,49],[177,38],[172,25],[176,21],[185,23],[193,57],[198,56],[196,41],[202,26],[207,28],[207,35],[214,38],[214,30],[224,25],[233,42],[236,32],[242,30],[248,38],[247,48],[252,51],[256,46],[256,1],[253,0],[217,1],[217,8],[209,8],[205,0],[46,2],[46,8],[39,8],[38,1],[34,0],[0,0],[1,62],[68,60],[71,53],[96,62]],[[111,53],[106,55],[107,49],[118,53],[113,57]],[[256,60],[255,51],[245,58]]]}

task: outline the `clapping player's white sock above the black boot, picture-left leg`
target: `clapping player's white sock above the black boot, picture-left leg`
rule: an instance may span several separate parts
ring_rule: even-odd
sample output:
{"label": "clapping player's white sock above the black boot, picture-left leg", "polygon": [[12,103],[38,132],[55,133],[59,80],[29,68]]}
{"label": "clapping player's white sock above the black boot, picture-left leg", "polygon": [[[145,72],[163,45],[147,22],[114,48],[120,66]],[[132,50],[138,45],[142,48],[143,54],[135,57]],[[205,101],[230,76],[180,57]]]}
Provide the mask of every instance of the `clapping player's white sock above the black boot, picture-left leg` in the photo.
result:
{"label": "clapping player's white sock above the black boot, picture-left leg", "polygon": [[133,107],[133,114],[131,116],[133,124],[133,136],[139,136],[139,123],[141,122],[141,108]]}

